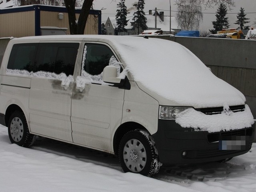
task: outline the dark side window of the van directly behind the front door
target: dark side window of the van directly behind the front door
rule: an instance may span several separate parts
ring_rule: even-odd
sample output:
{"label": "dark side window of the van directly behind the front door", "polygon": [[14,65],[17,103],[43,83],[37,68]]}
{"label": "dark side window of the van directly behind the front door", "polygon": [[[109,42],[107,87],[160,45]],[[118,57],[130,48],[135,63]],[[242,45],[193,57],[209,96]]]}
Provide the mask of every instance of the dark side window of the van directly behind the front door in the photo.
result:
{"label": "dark side window of the van directly behind the front door", "polygon": [[33,72],[73,75],[79,43],[40,43]]}

